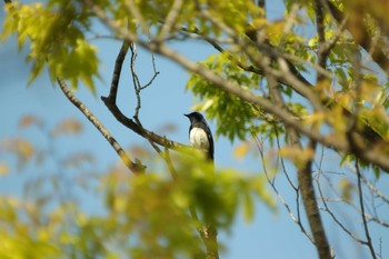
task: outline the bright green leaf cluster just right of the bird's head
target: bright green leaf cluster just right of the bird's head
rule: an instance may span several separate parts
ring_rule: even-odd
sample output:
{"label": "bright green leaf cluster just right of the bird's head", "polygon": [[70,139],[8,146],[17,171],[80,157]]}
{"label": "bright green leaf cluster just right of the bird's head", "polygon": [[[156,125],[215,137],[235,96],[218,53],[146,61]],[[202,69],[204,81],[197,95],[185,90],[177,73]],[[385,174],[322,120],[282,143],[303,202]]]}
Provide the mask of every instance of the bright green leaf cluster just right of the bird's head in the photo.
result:
{"label": "bright green leaf cluster just right of the bird's head", "polygon": [[[245,88],[259,88],[259,78],[237,69],[226,54],[210,56],[203,63],[207,68],[221,73],[228,80],[245,86]],[[250,135],[251,122],[259,117],[256,107],[216,88],[197,74],[192,74],[187,88],[199,100],[206,100],[194,108],[206,111],[209,117],[216,119],[217,135],[227,136],[231,141],[235,138],[246,139]]]}

